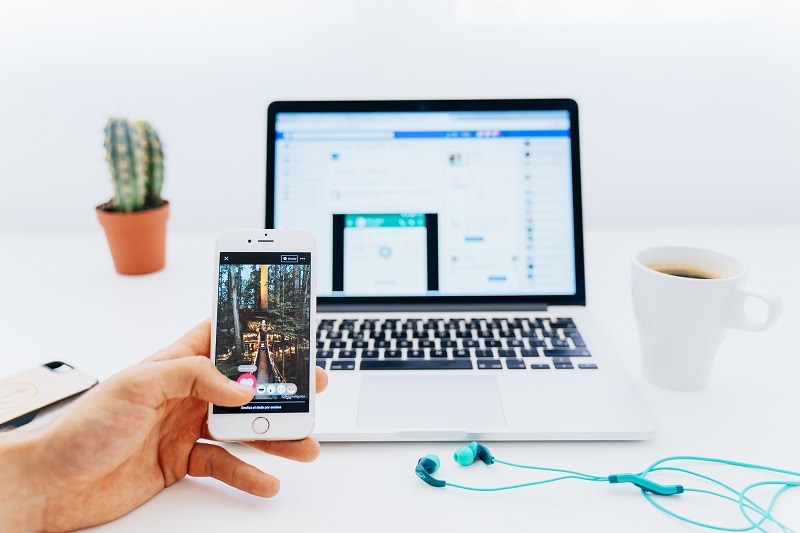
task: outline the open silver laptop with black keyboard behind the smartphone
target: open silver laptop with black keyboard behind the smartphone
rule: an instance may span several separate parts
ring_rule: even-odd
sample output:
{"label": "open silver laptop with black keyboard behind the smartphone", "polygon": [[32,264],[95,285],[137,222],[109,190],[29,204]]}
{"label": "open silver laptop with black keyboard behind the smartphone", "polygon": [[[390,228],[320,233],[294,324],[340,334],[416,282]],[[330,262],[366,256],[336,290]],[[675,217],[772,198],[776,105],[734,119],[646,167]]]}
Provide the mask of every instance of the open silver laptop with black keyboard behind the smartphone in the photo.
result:
{"label": "open silver laptop with black keyboard behind the smartphone", "polygon": [[321,441],[635,440],[586,308],[573,100],[273,102],[266,228],[317,239]]}

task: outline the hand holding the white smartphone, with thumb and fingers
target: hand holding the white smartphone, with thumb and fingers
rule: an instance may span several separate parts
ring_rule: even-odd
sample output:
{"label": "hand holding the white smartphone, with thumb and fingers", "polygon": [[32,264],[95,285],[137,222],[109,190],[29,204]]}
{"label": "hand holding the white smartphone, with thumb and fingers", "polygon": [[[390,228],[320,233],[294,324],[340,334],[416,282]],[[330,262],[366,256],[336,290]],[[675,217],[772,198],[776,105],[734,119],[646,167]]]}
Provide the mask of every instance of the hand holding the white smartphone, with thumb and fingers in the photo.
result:
{"label": "hand holding the white smartphone, with thumb and fingers", "polygon": [[[223,376],[209,359],[206,320],[173,345],[111,377],[75,401],[53,423],[30,433],[27,482],[36,485],[40,523],[65,531],[120,517],[186,475],[210,476],[262,497],[278,492],[275,477],[220,446],[208,433],[208,402],[243,405],[253,389]],[[317,368],[317,392],[327,375]],[[245,442],[309,462],[312,438]],[[33,513],[36,514],[36,513]]]}

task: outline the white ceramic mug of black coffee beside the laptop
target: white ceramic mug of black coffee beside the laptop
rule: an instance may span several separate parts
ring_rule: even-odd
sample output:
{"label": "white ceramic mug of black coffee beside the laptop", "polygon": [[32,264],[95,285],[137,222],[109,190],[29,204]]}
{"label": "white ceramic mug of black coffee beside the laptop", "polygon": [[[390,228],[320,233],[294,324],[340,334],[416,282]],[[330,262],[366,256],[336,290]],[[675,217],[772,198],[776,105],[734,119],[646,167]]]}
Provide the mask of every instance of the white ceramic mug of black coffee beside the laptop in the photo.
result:
{"label": "white ceramic mug of black coffee beside the laptop", "polygon": [[[650,248],[633,257],[633,307],[648,381],[702,389],[728,328],[762,331],[778,321],[780,297],[745,285],[746,275],[740,261],[700,248]],[[745,313],[747,298],[766,304],[764,320]]]}

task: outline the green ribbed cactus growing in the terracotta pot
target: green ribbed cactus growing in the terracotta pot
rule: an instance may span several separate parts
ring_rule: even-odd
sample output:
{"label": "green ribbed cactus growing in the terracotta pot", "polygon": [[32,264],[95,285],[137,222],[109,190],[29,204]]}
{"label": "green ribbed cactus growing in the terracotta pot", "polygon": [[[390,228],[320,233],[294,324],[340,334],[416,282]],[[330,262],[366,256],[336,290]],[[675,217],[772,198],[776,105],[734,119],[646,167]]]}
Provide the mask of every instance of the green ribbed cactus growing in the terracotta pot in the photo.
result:
{"label": "green ribbed cactus growing in the terracotta pot", "polygon": [[124,118],[112,118],[105,134],[114,209],[131,212],[160,206],[164,156],[153,127],[144,121],[131,124]]}

